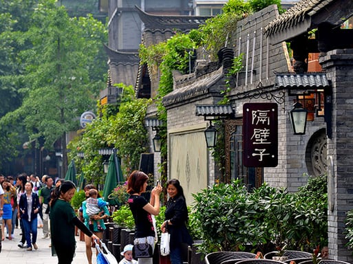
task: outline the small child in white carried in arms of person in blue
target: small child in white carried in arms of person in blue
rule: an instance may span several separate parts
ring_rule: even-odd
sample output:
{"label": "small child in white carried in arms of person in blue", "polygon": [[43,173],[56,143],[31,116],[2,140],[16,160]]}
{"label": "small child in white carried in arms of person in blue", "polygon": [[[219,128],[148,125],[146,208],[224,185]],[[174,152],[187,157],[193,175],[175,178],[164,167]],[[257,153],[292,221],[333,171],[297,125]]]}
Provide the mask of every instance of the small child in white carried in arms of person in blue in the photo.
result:
{"label": "small child in white carried in arms of person in blue", "polygon": [[107,206],[107,202],[103,199],[98,199],[98,191],[96,189],[91,189],[88,192],[89,198],[86,200],[86,213],[89,215],[89,230],[94,232],[94,221],[96,221],[98,231],[103,231],[100,221],[94,220],[94,215],[99,215],[103,212],[102,208]]}

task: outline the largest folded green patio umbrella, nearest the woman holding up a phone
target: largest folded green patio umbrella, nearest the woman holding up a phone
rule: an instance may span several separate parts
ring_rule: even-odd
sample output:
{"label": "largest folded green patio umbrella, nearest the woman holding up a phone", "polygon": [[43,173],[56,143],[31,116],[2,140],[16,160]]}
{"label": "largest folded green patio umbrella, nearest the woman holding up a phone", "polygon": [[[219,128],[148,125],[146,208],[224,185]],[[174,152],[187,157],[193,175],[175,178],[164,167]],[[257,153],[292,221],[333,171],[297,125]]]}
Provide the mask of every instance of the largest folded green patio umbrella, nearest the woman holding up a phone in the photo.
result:
{"label": "largest folded green patio umbrella, nearest the woman holding up a phone", "polygon": [[119,182],[122,181],[122,170],[120,167],[120,162],[116,153],[110,155],[109,166],[107,176],[105,177],[105,184],[103,188],[103,199],[108,201],[111,206],[118,206],[118,203],[114,199],[109,199],[111,191],[116,188]]}

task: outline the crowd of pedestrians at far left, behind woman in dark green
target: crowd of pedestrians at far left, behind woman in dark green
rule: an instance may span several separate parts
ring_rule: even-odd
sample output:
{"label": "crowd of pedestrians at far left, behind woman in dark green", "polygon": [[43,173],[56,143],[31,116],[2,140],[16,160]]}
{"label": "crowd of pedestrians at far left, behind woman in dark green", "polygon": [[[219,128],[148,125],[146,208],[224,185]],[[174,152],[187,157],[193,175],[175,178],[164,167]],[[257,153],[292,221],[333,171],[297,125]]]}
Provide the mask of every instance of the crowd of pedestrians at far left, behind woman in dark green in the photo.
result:
{"label": "crowd of pedestrians at far left, behind woman in dark green", "polygon": [[34,174],[21,173],[17,177],[5,177],[0,174],[0,187],[3,192],[0,206],[1,241],[4,243],[7,240],[11,241],[14,239],[14,230],[21,228],[18,246],[30,251],[38,249],[36,245],[38,228],[43,228],[43,239],[50,237],[49,214],[45,214],[45,210],[51,191],[54,190],[51,186],[54,180],[61,181],[47,175],[43,175],[40,179]]}

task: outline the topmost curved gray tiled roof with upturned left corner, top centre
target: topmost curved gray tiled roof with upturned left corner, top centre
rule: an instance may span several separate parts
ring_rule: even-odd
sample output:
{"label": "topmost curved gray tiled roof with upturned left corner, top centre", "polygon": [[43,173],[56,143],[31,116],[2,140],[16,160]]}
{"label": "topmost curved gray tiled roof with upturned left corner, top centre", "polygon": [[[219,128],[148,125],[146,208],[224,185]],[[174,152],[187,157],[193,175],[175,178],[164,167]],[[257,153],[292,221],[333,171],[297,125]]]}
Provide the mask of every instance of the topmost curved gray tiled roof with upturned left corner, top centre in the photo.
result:
{"label": "topmost curved gray tiled roof with upturned left corner, top centre", "polygon": [[167,15],[156,15],[149,14],[135,5],[138,10],[138,15],[143,23],[145,23],[146,28],[198,28],[206,22],[207,19],[211,17],[200,17],[200,16],[167,16]]}

